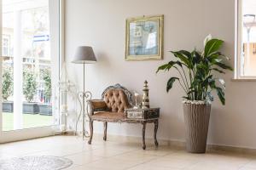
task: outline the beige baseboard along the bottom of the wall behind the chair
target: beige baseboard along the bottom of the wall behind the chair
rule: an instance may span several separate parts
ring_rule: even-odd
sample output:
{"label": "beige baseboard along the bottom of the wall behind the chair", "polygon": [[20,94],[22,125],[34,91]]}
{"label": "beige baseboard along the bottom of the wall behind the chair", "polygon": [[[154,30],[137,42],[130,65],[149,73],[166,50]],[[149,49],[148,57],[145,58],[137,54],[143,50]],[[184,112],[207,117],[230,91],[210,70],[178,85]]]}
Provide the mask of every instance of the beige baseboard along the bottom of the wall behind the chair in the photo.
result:
{"label": "beige baseboard along the bottom of the wall behind the chair", "polygon": [[[103,137],[103,134],[101,133],[95,133],[93,135],[93,139],[102,139],[102,137]],[[121,135],[108,134],[108,141],[115,141],[115,142],[119,141],[119,142],[141,144],[142,138],[135,137],[135,136],[121,136]],[[154,144],[154,139],[145,139],[145,141],[147,144]],[[158,139],[158,142],[160,145],[166,145],[166,146],[170,146],[170,147],[181,149],[181,150],[185,150],[186,148],[186,143],[184,141]],[[242,147],[235,147],[235,146],[225,146],[225,145],[219,145],[219,144],[207,144],[207,151],[212,151],[212,150],[256,155],[256,149],[242,148]]]}

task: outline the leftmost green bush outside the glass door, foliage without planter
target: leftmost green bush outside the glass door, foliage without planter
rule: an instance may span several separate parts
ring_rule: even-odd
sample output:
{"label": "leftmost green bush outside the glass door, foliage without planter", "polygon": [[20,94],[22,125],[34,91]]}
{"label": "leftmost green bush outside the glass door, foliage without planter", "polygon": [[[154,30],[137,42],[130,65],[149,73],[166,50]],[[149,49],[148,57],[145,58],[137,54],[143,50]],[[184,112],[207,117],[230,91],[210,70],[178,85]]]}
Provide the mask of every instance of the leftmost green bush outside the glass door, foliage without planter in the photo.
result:
{"label": "leftmost green bush outside the glass door, foliage without planter", "polygon": [[2,92],[3,100],[7,101],[14,93],[14,74],[10,66],[3,66]]}

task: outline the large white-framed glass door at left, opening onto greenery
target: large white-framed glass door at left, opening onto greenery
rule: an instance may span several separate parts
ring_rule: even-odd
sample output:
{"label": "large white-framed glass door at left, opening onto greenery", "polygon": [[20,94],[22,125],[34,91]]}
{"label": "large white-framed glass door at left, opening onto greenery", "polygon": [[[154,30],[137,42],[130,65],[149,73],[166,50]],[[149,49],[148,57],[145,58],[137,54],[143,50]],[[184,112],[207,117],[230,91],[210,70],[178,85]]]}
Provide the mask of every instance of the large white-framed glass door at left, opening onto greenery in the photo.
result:
{"label": "large white-framed glass door at left, opening onto greenery", "polygon": [[3,137],[17,131],[26,138],[49,135],[58,125],[54,87],[61,62],[60,4],[59,0],[2,0]]}

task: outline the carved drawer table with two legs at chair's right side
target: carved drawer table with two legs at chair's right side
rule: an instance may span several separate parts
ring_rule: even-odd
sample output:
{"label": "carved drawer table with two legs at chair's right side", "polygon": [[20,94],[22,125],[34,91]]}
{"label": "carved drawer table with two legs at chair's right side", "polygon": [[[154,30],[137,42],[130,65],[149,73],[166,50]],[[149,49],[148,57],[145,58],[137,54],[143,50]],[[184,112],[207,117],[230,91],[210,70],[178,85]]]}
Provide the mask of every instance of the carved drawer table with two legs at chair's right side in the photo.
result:
{"label": "carved drawer table with two legs at chair's right side", "polygon": [[143,124],[143,150],[146,149],[145,131],[147,123],[154,123],[154,144],[158,146],[156,133],[160,117],[160,108],[149,109],[125,109],[125,122]]}

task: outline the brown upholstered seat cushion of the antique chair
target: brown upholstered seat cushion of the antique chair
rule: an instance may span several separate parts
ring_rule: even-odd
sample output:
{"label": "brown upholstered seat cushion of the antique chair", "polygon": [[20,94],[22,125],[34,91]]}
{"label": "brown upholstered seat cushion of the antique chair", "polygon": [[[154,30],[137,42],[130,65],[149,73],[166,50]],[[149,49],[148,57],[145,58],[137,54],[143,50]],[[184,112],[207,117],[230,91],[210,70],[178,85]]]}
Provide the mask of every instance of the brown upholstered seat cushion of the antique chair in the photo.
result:
{"label": "brown upholstered seat cushion of the antique chair", "polygon": [[125,113],[123,112],[110,112],[110,111],[100,111],[96,112],[92,119],[102,120],[102,121],[122,121],[125,119]]}

